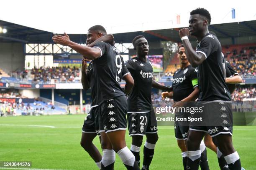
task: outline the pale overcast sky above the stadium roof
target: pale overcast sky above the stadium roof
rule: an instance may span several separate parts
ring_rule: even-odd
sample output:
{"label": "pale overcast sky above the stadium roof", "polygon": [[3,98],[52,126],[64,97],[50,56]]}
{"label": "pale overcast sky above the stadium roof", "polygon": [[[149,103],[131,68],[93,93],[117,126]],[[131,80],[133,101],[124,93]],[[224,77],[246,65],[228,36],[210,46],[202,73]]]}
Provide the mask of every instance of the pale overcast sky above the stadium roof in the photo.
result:
{"label": "pale overcast sky above the stadium roof", "polygon": [[197,7],[209,10],[212,24],[256,20],[252,0],[4,0],[0,5],[0,20],[68,34],[84,34],[97,24],[109,33],[186,27]]}

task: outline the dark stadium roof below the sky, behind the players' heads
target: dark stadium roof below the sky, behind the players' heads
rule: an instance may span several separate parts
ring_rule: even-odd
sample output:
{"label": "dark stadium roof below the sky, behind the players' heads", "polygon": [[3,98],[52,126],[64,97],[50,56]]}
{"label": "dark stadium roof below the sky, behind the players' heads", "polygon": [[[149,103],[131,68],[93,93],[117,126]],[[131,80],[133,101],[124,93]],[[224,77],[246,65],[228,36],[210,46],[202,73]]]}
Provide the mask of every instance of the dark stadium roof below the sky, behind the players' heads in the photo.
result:
{"label": "dark stadium roof below the sky, behind the players' heads", "polygon": [[[6,34],[0,34],[1,42],[52,43],[52,32],[29,28],[3,20],[0,20],[0,26],[8,29]],[[148,41],[171,40],[174,42],[181,42],[178,32],[179,29],[180,28],[171,28],[162,30],[126,32],[114,34],[114,37],[116,43],[131,43],[133,38],[137,35],[144,35]],[[214,24],[210,25],[209,30],[214,31],[219,39],[256,35],[256,20]],[[69,34],[69,36],[74,42],[85,43],[85,34]]]}

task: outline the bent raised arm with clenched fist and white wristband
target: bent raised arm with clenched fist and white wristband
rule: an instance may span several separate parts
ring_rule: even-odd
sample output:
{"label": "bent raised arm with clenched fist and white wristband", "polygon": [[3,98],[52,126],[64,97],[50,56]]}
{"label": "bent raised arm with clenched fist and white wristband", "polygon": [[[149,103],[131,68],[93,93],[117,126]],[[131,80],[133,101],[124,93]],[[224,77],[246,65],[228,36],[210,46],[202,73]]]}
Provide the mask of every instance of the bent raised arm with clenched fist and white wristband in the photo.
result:
{"label": "bent raised arm with clenched fist and white wristband", "polygon": [[195,52],[195,50],[192,48],[192,45],[187,38],[189,36],[188,28],[179,30],[179,36],[182,38],[182,43],[185,47],[187,59],[189,60],[192,67],[197,67],[206,59],[205,55],[200,52]]}

